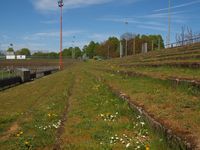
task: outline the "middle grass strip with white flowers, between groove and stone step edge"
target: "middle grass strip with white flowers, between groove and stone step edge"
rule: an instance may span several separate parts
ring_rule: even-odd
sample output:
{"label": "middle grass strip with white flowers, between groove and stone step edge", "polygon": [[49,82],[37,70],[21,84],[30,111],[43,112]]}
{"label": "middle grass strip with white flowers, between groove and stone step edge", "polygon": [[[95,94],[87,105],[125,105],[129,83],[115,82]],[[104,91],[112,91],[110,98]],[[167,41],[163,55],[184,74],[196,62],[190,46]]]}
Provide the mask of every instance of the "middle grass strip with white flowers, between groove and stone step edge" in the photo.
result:
{"label": "middle grass strip with white flowers, between groove and stone step edge", "polygon": [[168,149],[126,102],[90,74],[78,73],[62,149]]}

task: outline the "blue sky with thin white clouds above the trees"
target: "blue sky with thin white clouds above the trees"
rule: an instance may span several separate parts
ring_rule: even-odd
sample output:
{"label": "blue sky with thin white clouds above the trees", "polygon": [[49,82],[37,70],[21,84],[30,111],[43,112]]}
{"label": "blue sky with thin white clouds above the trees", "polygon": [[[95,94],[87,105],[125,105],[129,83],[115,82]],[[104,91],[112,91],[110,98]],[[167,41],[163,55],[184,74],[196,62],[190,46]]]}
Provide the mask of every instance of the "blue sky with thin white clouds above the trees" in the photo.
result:
{"label": "blue sky with thin white clouds above the trees", "polygon": [[[0,0],[0,50],[59,51],[57,0]],[[168,0],[64,0],[63,47],[83,47],[125,32],[168,32]],[[171,42],[182,26],[200,33],[200,0],[171,0]],[[125,24],[128,22],[128,24]],[[72,42],[74,41],[74,42]]]}

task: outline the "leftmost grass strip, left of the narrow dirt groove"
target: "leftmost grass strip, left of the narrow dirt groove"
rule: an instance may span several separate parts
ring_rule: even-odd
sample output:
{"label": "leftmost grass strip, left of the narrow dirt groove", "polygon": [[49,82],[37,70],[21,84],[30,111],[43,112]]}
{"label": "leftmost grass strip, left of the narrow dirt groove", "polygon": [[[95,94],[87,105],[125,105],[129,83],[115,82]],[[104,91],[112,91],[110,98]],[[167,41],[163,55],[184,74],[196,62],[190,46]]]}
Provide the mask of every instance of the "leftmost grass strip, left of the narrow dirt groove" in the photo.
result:
{"label": "leftmost grass strip, left of the narrow dirt groove", "polygon": [[73,75],[63,71],[0,93],[0,149],[54,144]]}

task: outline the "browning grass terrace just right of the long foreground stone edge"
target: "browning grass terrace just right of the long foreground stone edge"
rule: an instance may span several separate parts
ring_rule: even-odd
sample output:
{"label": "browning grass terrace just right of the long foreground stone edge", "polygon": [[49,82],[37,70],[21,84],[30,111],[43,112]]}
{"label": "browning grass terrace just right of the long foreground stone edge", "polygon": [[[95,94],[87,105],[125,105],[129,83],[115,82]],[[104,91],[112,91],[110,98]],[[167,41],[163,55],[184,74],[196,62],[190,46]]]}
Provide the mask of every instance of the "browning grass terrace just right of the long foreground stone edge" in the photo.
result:
{"label": "browning grass terrace just right of the long foreground stone edge", "polygon": [[[176,133],[184,136],[191,133],[196,139],[200,135],[200,97],[192,95],[184,88],[173,88],[168,82],[151,78],[125,77],[94,71],[108,84],[128,94],[139,106]],[[181,125],[181,126],[180,126]]]}

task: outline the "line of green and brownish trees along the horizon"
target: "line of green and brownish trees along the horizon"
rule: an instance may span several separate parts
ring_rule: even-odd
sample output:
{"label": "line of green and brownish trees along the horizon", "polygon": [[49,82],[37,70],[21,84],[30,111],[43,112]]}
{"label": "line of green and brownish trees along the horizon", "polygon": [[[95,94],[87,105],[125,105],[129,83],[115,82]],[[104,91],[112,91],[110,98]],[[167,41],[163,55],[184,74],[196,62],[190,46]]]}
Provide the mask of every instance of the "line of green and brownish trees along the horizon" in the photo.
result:
{"label": "line of green and brownish trees along the horizon", "polygon": [[[147,43],[148,51],[164,48],[164,41],[161,35],[136,35],[125,33],[120,37],[120,39],[117,37],[109,37],[107,40],[100,43],[91,41],[89,44],[83,46],[82,49],[79,47],[65,48],[62,51],[62,55],[66,58],[80,58],[84,54],[89,58],[93,58],[94,56],[116,58],[120,56],[120,45],[125,56],[141,53],[143,43]],[[7,52],[14,52],[14,49],[10,47]],[[28,48],[22,48],[16,51],[15,54],[26,55],[27,57],[58,58],[60,52],[38,51],[31,54],[31,51]]]}

